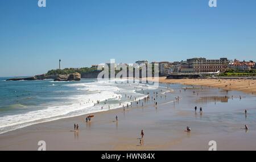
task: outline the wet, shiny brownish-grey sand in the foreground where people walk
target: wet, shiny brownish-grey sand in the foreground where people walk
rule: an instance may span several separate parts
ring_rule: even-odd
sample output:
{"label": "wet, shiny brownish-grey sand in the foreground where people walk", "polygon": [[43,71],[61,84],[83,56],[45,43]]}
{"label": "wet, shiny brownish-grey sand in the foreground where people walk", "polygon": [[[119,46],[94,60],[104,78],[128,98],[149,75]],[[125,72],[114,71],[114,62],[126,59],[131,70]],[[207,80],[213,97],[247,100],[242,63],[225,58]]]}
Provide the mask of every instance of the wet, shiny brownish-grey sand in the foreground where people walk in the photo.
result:
{"label": "wet, shiny brownish-grey sand in the foreground where people walk", "polygon": [[[120,108],[94,113],[88,123],[85,115],[1,134],[0,150],[38,150],[39,140],[46,142],[47,150],[208,150],[210,140],[216,140],[217,150],[256,150],[254,95],[179,84],[171,88],[174,92],[167,93],[166,99],[158,95],[157,108],[151,101],[143,107],[133,104],[125,112]],[[179,101],[172,102],[177,96]],[[195,105],[203,107],[203,114],[195,113]],[[246,117],[244,109],[249,112]],[[79,132],[73,131],[74,123],[79,124]],[[185,132],[187,126],[191,133]],[[139,146],[142,129],[145,136]]]}

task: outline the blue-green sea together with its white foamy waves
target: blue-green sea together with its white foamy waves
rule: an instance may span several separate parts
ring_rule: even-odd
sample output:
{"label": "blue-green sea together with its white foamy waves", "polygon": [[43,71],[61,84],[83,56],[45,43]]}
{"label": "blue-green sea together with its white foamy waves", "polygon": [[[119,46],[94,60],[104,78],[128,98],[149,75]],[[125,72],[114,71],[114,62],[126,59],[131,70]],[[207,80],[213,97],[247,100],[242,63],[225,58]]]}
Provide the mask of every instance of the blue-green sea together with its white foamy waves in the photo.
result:
{"label": "blue-green sea together with its white foamy waves", "polygon": [[117,84],[97,79],[81,82],[5,79],[0,78],[0,134],[36,123],[121,108],[130,105],[135,97],[139,100],[147,96],[142,91],[155,89],[122,80]]}

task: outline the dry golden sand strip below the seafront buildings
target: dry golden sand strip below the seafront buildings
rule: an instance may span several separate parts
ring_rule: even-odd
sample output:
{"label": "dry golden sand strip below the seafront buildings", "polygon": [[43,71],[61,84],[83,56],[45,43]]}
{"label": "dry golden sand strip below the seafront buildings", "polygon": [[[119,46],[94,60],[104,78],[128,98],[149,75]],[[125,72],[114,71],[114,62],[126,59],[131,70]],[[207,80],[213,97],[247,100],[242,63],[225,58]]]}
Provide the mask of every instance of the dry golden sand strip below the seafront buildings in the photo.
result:
{"label": "dry golden sand strip below the seafront buildings", "polygon": [[166,77],[158,77],[148,78],[148,80],[160,83],[179,83],[184,85],[206,87],[210,86],[215,88],[222,88],[226,91],[236,90],[256,94],[255,79],[166,79]]}

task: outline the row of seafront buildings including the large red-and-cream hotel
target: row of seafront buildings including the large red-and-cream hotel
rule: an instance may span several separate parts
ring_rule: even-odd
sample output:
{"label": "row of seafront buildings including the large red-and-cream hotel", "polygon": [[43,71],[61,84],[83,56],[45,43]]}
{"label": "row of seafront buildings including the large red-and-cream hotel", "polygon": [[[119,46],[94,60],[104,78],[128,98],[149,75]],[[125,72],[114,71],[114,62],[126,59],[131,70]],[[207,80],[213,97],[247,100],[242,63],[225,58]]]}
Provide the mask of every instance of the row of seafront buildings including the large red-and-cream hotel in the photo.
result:
{"label": "row of seafront buildings including the large red-and-cream hotel", "polygon": [[[148,64],[145,61],[136,61],[138,65],[142,63]],[[237,59],[229,60],[228,58],[220,59],[206,59],[206,58],[191,58],[187,61],[179,62],[151,62],[152,64],[159,64],[159,74],[169,75],[172,73],[216,73],[218,71],[225,72],[228,69],[246,71],[251,69],[256,69],[254,61],[239,61]],[[98,65],[92,65],[92,67],[97,67]]]}

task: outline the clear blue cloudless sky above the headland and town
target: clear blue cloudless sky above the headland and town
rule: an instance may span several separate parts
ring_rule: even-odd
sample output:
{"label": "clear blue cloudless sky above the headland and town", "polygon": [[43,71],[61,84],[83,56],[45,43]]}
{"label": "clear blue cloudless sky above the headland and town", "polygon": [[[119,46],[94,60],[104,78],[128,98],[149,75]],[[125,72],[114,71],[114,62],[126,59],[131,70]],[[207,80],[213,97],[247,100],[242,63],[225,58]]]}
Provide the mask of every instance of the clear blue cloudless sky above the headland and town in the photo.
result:
{"label": "clear blue cloudless sky above the headland and town", "polygon": [[0,76],[109,62],[256,60],[256,1],[0,0]]}

